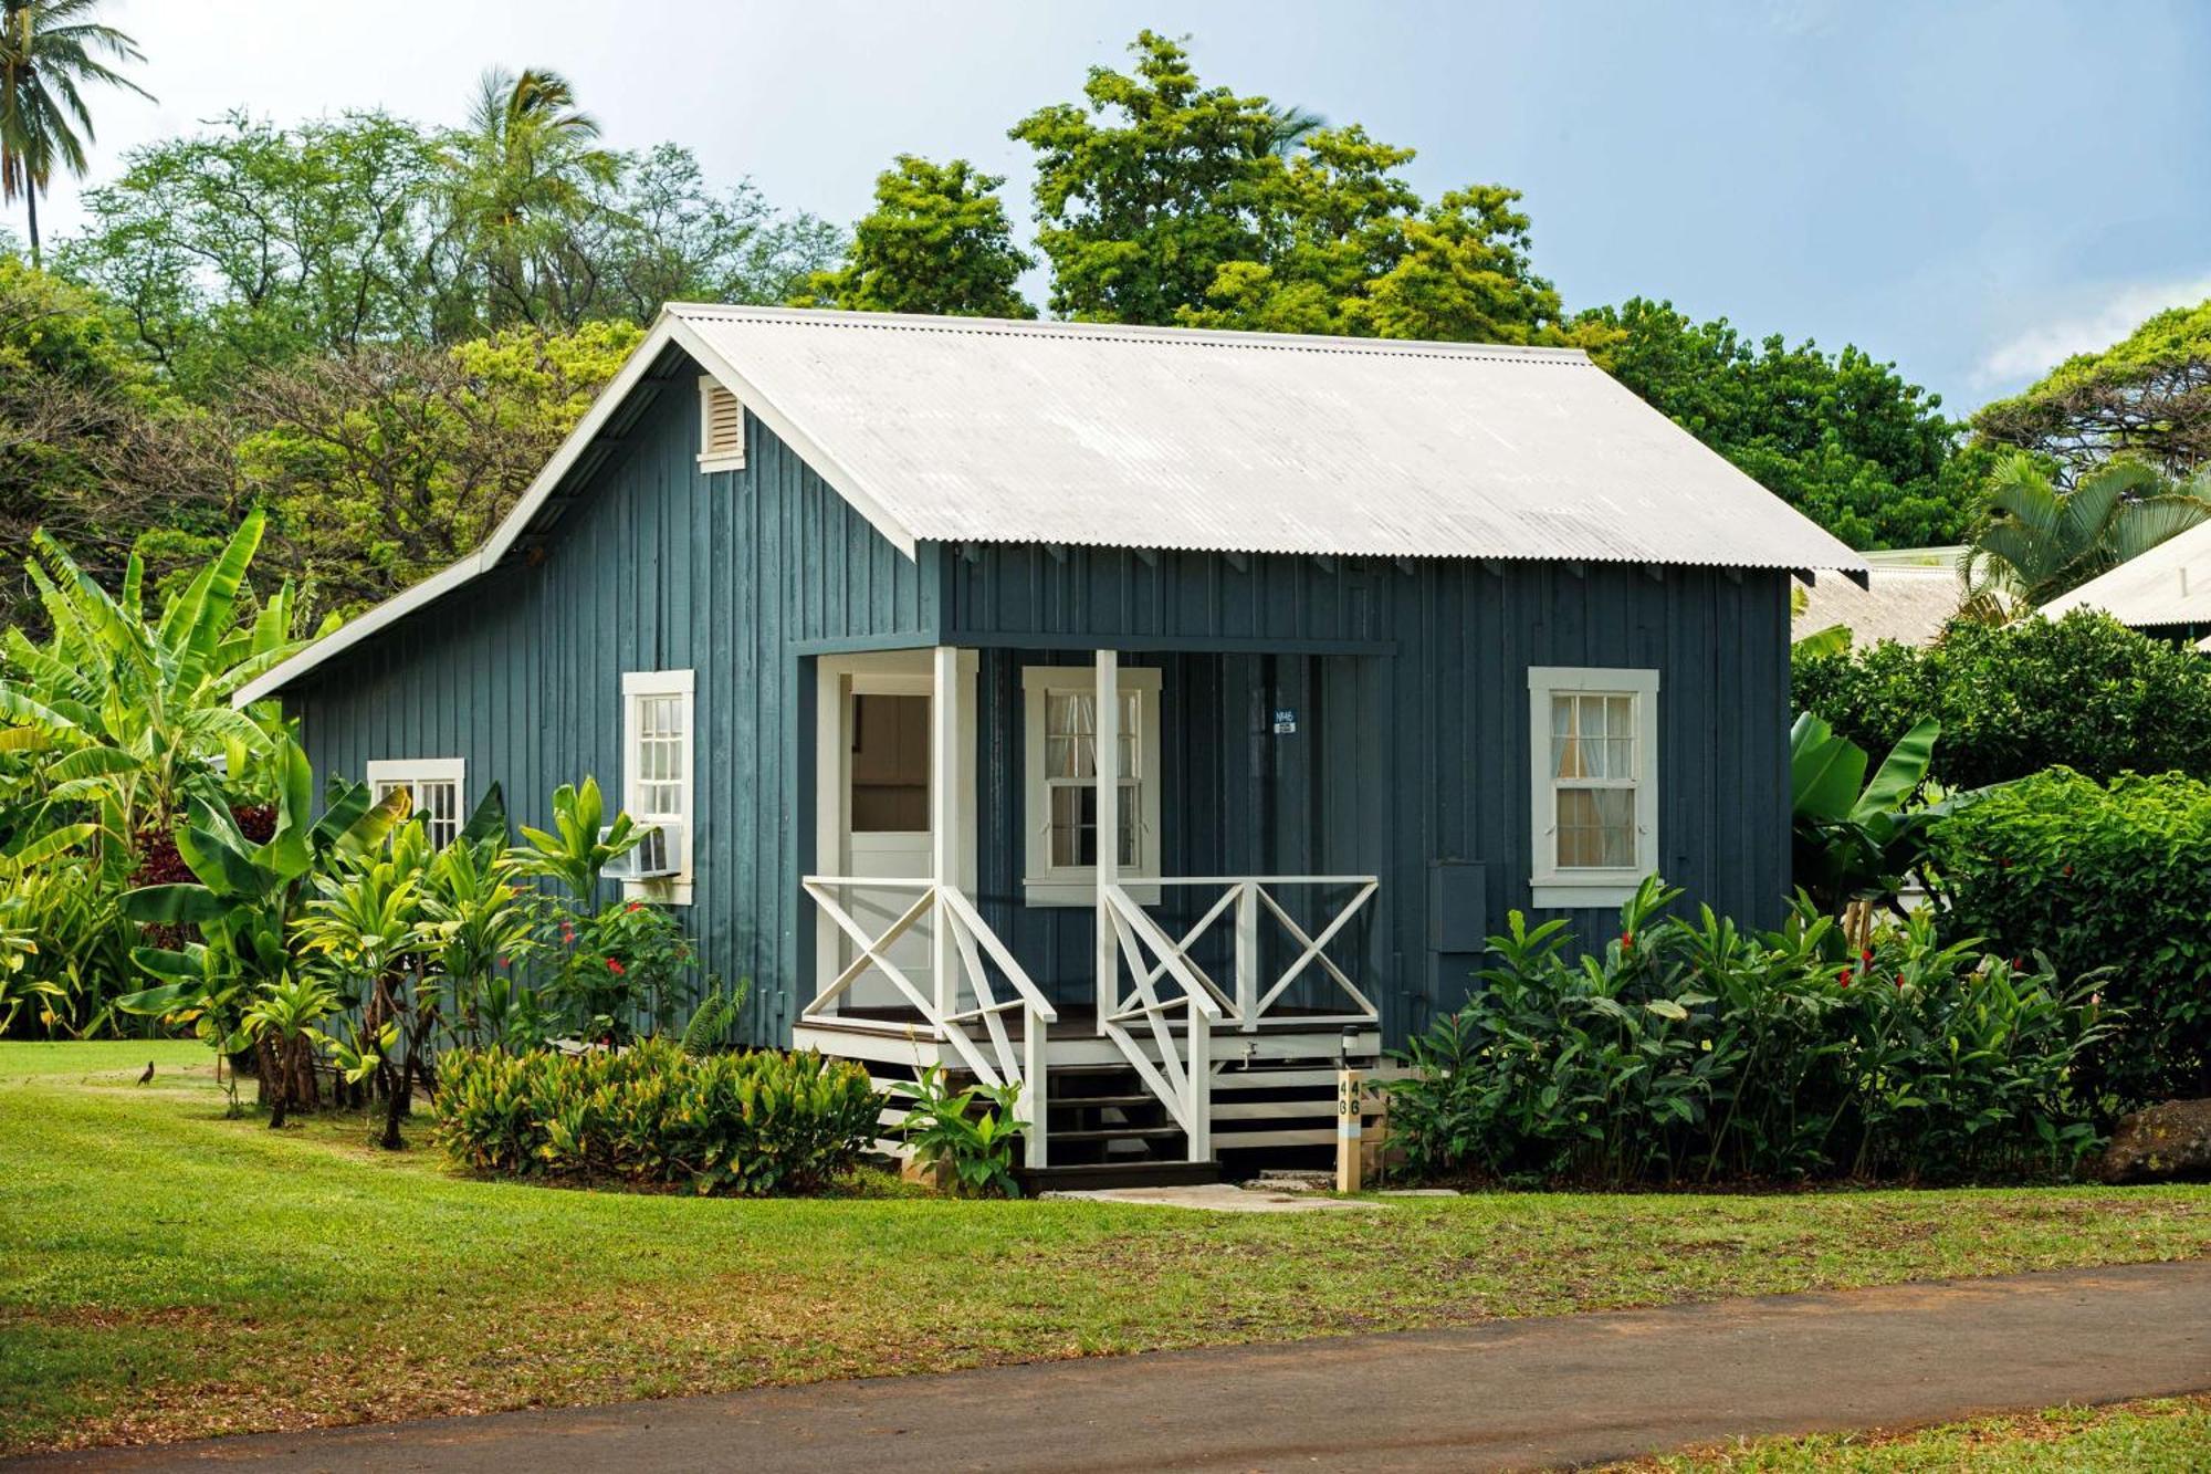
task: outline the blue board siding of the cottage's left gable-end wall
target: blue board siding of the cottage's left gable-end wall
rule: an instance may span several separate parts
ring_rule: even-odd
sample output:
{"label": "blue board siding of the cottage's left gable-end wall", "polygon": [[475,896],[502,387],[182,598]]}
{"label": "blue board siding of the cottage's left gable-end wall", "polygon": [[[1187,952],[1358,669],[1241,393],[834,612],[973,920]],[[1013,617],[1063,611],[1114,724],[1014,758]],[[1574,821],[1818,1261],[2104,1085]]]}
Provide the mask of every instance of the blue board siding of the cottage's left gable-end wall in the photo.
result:
{"label": "blue board siding of the cottage's left gable-end wall", "polygon": [[[789,1036],[800,954],[798,655],[820,637],[933,624],[922,571],[758,421],[741,471],[701,474],[696,367],[624,429],[542,544],[285,693],[318,772],[464,757],[511,819],[551,823],[553,788],[621,803],[621,673],[696,671],[694,887],[705,972],[752,978],[752,1031]],[[811,930],[811,921],[807,921]]]}

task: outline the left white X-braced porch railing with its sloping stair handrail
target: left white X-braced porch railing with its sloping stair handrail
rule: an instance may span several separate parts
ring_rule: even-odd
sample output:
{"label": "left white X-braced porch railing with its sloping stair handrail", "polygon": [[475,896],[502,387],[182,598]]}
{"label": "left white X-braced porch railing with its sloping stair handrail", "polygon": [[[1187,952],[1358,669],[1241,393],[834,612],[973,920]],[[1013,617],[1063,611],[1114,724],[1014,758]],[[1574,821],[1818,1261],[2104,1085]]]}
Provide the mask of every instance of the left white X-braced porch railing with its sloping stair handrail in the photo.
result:
{"label": "left white X-braced porch railing with its sloping stair handrail", "polygon": [[[898,994],[922,1016],[924,1031],[949,1045],[960,1062],[984,1084],[1019,1084],[1019,1118],[1024,1124],[1024,1151],[1030,1166],[1046,1164],[1044,1120],[1046,1120],[1046,1029],[1059,1020],[1052,1000],[1030,980],[1021,963],[999,941],[997,932],[982,918],[975,903],[957,885],[937,885],[931,879],[891,876],[840,876],[809,874],[800,881],[814,905],[842,932],[853,947],[853,958],[822,987],[805,1009],[800,1023],[836,1023],[831,1005],[842,1000],[853,983],[876,972],[898,989]],[[880,934],[853,921],[845,907],[847,890],[913,892],[913,903],[902,910]],[[949,954],[957,958],[957,985],[944,987],[933,978],[929,989],[913,983],[904,967],[891,958],[895,943],[924,916],[935,916],[935,925],[951,936]],[[937,956],[946,956],[937,947]],[[984,958],[997,963],[1010,994],[999,996],[991,983]],[[1021,1016],[1021,1040],[1015,1047],[1006,1029],[1006,1014]],[[982,1040],[971,1027],[982,1027]],[[988,1051],[986,1051],[988,1049]]]}

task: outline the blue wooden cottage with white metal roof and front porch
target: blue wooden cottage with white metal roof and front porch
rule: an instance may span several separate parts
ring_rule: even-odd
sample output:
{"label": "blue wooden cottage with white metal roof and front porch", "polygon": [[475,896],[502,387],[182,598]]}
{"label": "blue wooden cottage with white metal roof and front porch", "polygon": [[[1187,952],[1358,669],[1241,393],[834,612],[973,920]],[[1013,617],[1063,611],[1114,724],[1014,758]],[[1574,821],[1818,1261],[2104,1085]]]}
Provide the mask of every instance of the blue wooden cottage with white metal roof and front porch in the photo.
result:
{"label": "blue wooden cottage with white metal roof and front porch", "polygon": [[599,775],[763,1040],[1209,1162],[1329,1140],[1508,907],[1775,921],[1809,569],[1864,564],[1579,352],[670,305],[239,702],[433,828]]}

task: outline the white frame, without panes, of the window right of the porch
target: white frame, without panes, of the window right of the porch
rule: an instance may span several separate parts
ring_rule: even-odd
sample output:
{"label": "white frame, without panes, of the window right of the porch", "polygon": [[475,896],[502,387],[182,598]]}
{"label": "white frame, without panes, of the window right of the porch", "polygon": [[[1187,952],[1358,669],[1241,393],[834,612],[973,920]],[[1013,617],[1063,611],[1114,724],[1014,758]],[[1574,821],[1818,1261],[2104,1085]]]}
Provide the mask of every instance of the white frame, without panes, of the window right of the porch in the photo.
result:
{"label": "white frame, without panes, of the window right of the porch", "polygon": [[[1559,865],[1559,779],[1550,761],[1550,702],[1559,695],[1630,697],[1636,706],[1636,863]],[[1658,870],[1658,673],[1618,666],[1528,666],[1530,903],[1545,910],[1627,903]]]}

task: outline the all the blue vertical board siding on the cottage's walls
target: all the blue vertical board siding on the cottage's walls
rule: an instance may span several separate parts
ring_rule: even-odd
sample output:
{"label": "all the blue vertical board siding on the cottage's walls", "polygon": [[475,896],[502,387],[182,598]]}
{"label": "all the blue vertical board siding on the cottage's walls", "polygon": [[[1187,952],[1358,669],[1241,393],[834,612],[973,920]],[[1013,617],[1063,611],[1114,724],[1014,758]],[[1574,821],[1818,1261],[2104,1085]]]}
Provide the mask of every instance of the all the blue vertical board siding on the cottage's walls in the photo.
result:
{"label": "all the blue vertical board siding on the cottage's walls", "polygon": [[[1784,573],[1026,544],[924,544],[911,560],[758,421],[743,471],[701,474],[694,372],[657,381],[537,553],[285,699],[325,770],[464,757],[471,801],[497,779],[513,819],[544,826],[562,781],[597,775],[619,801],[621,673],[694,668],[685,923],[710,972],[754,980],[758,1038],[787,1038],[811,938],[798,892],[814,834],[807,642],[984,651],[977,901],[1068,1000],[1090,994],[1092,916],[1021,899],[1019,673],[1086,664],[1099,644],[1163,671],[1167,872],[1382,879],[1344,947],[1391,1040],[1464,996],[1477,963],[1431,952],[1435,863],[1484,868],[1492,930],[1528,907],[1528,666],[1658,668],[1665,874],[1744,923],[1780,918]],[[1298,708],[1296,735],[1269,730],[1276,706]],[[1163,921],[1194,905],[1170,896]],[[1590,943],[1616,925],[1570,918]]]}

